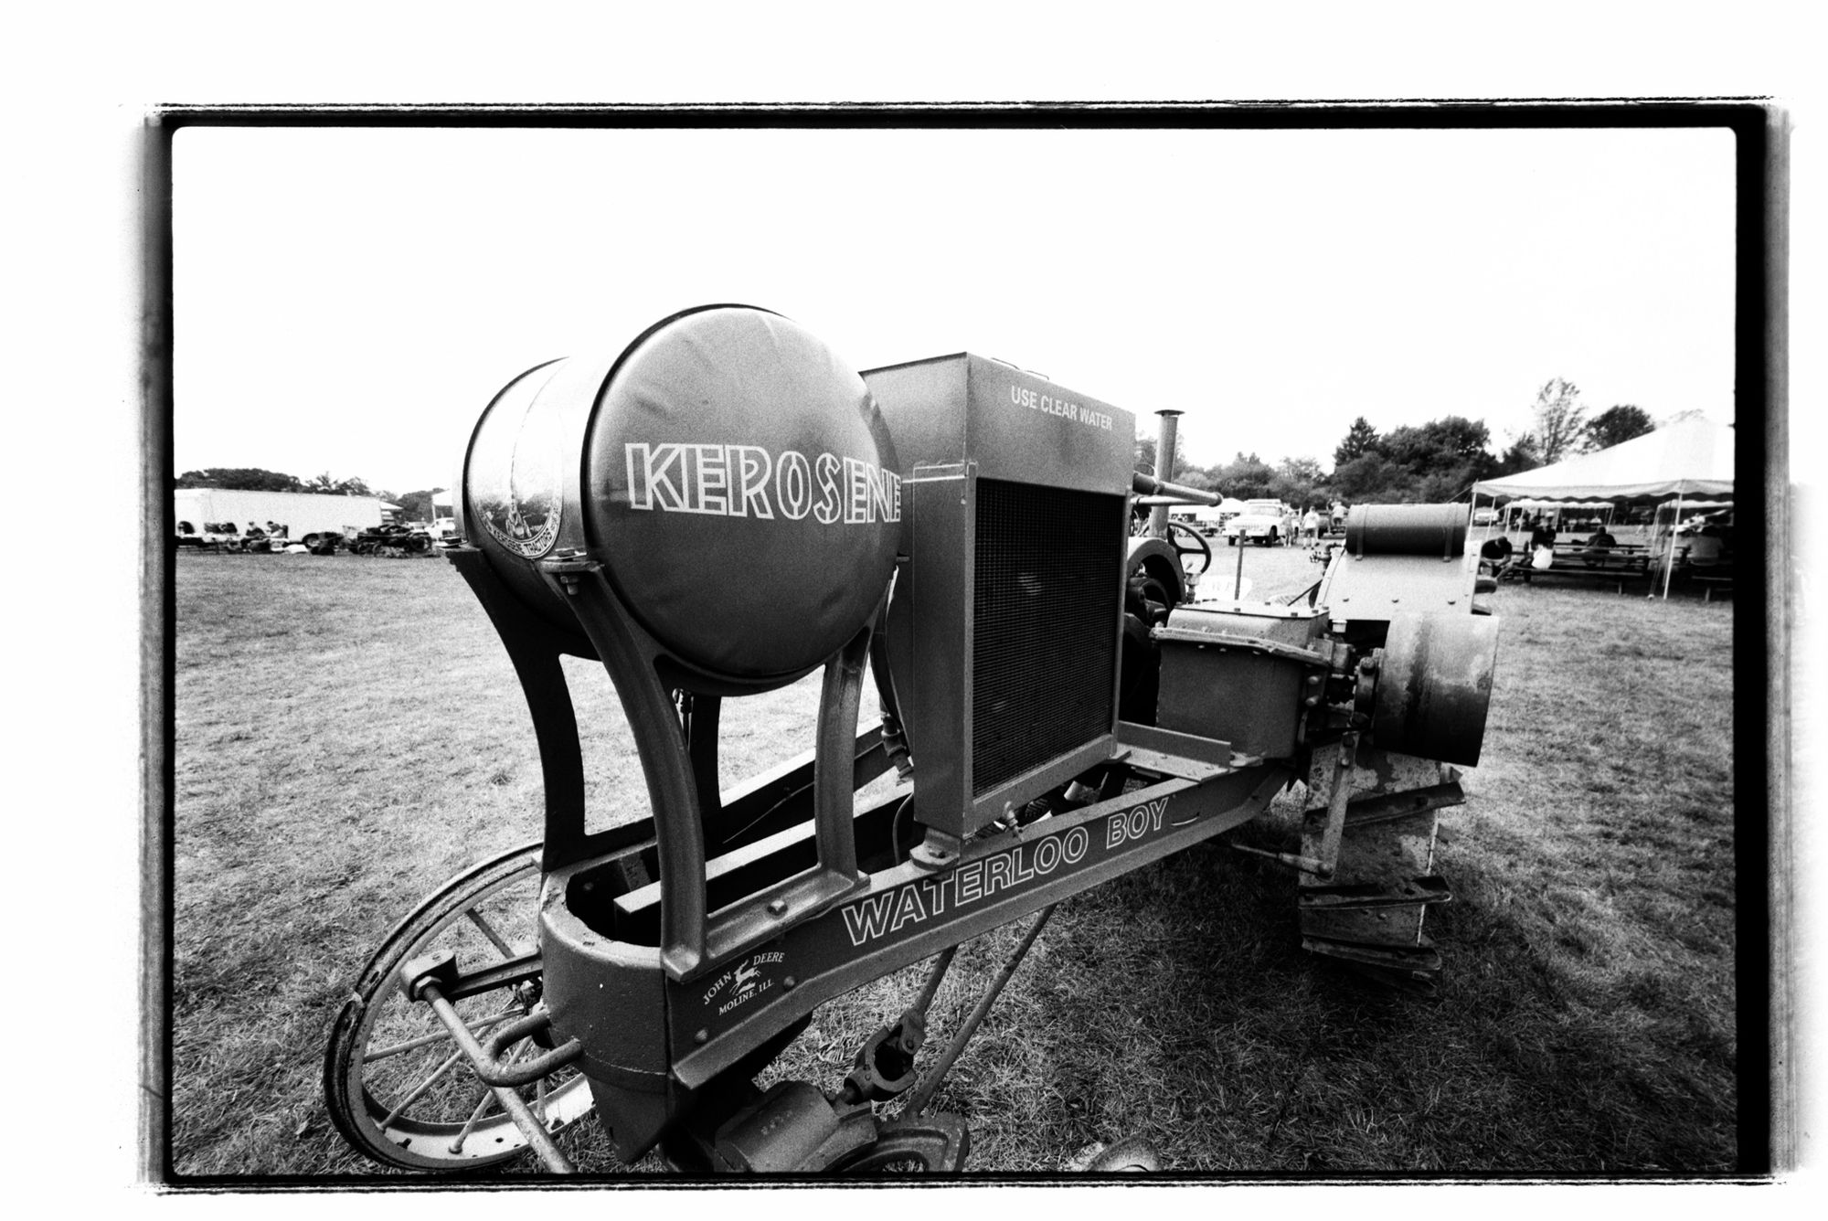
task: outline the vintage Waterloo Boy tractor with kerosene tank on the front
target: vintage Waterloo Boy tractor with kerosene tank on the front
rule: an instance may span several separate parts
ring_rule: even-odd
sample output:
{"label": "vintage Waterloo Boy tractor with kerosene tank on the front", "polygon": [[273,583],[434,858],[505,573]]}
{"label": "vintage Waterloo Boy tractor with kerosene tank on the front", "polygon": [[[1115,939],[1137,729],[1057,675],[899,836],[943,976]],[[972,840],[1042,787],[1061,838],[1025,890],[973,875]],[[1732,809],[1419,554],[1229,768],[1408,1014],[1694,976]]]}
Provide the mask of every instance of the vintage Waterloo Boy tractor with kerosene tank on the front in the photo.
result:
{"label": "vintage Waterloo Boy tractor with kerosene tank on the front", "polygon": [[[693,1173],[956,1170],[969,1131],[936,1088],[1053,905],[1296,782],[1300,852],[1269,855],[1303,945],[1426,989],[1435,819],[1479,759],[1497,647],[1466,506],[1355,510],[1292,605],[1188,601],[1210,545],[1132,537],[1132,506],[1214,497],[1133,475],[1133,435],[998,360],[859,375],[739,305],[510,382],[464,453],[450,559],[525,689],[545,835],[362,971],[325,1064],[351,1144],[565,1172],[554,1133],[596,1111],[622,1159]],[[647,817],[587,821],[565,656],[614,682]],[[810,749],[720,790],[724,700],[812,671]],[[859,726],[865,682],[883,715]],[[1027,916],[932,1055],[954,949]],[[753,1084],[821,1003],[927,960],[843,1082]]]}

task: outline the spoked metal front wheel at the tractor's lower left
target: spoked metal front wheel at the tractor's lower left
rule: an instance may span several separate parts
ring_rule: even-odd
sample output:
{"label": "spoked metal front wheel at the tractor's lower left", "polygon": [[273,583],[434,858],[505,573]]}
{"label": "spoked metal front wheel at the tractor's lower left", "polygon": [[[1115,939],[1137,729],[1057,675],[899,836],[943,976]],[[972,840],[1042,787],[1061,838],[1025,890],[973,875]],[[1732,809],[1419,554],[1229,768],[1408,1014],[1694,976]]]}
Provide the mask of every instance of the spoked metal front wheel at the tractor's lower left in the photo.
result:
{"label": "spoked metal front wheel at the tractor's lower left", "polygon": [[[497,1025],[539,1003],[539,844],[484,861],[446,883],[382,941],[364,967],[324,1058],[331,1122],[356,1150],[406,1170],[477,1170],[526,1150],[526,1137],[501,1100],[470,1069],[430,1005],[408,1000],[399,971],[426,954],[457,954],[464,976],[490,969],[488,991],[455,1002],[464,1024],[486,1038]],[[545,1033],[534,1038],[548,1038]],[[505,1051],[532,1060],[534,1038]],[[547,1131],[583,1119],[590,1088],[574,1067],[559,1067],[521,1097]]]}

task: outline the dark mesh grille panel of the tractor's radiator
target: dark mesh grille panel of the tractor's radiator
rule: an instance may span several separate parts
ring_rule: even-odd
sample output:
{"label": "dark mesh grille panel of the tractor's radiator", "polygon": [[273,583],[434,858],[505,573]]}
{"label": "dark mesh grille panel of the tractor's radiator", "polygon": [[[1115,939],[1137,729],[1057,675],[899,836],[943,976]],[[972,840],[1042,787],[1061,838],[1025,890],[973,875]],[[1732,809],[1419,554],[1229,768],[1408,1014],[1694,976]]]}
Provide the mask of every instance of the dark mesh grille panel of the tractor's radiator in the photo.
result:
{"label": "dark mesh grille panel of the tractor's radiator", "polygon": [[1110,733],[1124,497],[978,481],[971,786]]}

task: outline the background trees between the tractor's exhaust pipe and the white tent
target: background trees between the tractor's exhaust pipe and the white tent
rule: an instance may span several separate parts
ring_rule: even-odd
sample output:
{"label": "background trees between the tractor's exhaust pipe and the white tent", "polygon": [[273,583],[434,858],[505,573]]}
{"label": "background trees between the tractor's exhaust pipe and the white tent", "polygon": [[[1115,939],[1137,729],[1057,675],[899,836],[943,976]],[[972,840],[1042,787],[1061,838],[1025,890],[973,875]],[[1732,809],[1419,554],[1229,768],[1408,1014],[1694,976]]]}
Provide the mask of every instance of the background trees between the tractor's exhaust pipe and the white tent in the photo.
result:
{"label": "background trees between the tractor's exhaust pipe and the white tent", "polygon": [[[1334,446],[1331,473],[1322,472],[1313,457],[1265,462],[1256,453],[1239,451],[1230,462],[1216,466],[1175,462],[1172,481],[1239,501],[1278,499],[1296,508],[1329,501],[1439,504],[1466,497],[1479,479],[1607,450],[1654,428],[1651,413],[1632,404],[1589,415],[1579,389],[1557,377],[1537,391],[1530,430],[1499,453],[1492,451],[1492,431],[1484,420],[1446,415],[1378,431],[1360,415]],[[1153,437],[1137,439],[1137,470],[1153,473]]]}

